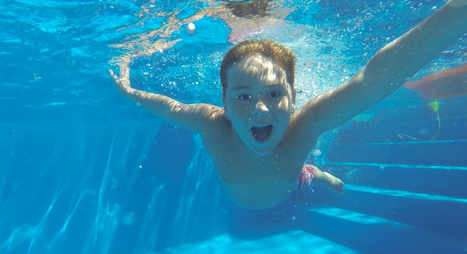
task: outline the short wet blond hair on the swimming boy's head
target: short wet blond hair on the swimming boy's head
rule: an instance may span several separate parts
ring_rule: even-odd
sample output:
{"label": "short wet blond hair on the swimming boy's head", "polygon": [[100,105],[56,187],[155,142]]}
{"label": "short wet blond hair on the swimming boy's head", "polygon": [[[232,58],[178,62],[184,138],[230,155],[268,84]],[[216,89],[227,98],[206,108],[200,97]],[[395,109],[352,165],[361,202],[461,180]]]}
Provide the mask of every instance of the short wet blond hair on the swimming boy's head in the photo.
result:
{"label": "short wet blond hair on the swimming boy's head", "polygon": [[235,62],[251,55],[261,55],[270,58],[272,62],[281,65],[285,69],[287,83],[289,83],[292,90],[292,101],[295,103],[295,54],[281,43],[266,39],[244,40],[227,51],[220,65],[222,97],[225,98],[225,90],[228,85],[228,69],[234,65]]}

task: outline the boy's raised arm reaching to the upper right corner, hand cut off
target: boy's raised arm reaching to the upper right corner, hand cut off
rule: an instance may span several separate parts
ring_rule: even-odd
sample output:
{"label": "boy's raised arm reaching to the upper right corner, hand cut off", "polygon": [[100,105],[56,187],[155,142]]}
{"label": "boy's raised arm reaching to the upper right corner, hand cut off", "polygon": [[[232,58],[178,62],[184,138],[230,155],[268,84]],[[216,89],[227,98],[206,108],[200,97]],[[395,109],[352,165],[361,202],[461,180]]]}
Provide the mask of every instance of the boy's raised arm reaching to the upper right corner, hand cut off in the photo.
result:
{"label": "boy's raised arm reaching to the upper right corner, hand cut off", "polygon": [[425,21],[373,55],[353,78],[307,101],[297,111],[293,124],[299,130],[307,130],[304,132],[308,132],[305,134],[308,138],[336,128],[395,92],[466,32],[467,0],[448,1]]}

